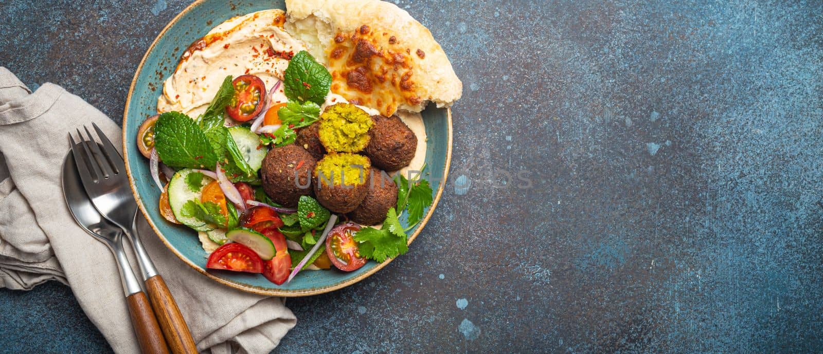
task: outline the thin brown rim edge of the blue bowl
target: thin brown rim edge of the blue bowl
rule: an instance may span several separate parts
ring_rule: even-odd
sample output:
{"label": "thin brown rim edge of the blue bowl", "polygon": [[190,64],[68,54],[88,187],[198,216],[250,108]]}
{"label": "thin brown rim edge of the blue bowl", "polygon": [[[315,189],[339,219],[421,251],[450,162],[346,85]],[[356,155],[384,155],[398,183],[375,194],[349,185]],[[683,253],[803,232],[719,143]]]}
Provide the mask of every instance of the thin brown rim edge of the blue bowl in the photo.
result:
{"label": "thin brown rim edge of the blue bowl", "polygon": [[[386,265],[391,263],[392,260],[394,260],[394,258],[389,258],[388,260],[385,260],[383,263],[377,264],[377,266],[375,266],[372,269],[369,269],[365,273],[358,274],[354,278],[346,279],[345,281],[343,281],[341,283],[337,283],[335,285],[332,285],[331,287],[313,287],[313,288],[303,289],[303,290],[287,290],[287,289],[265,289],[265,288],[262,288],[262,287],[253,287],[253,286],[249,286],[249,285],[242,284],[242,283],[235,283],[235,282],[230,281],[228,279],[217,277],[216,275],[207,272],[206,269],[200,268],[200,266],[198,264],[194,264],[192,261],[188,260],[188,258],[186,258],[183,254],[181,254],[179,251],[177,251],[177,249],[174,248],[174,246],[171,245],[171,243],[165,238],[163,233],[160,232],[160,229],[157,228],[154,221],[151,220],[151,217],[149,216],[148,211],[146,210],[146,207],[142,203],[142,198],[140,197],[140,194],[137,192],[137,184],[135,183],[135,179],[132,176],[132,170],[129,167],[129,163],[128,163],[128,149],[129,149],[128,145],[130,145],[130,144],[128,144],[128,141],[130,141],[130,140],[128,140],[128,136],[126,135],[126,130],[127,130],[127,126],[128,126],[127,122],[128,122],[129,103],[131,103],[131,100],[132,100],[134,87],[135,87],[135,85],[137,85],[137,77],[140,76],[140,74],[143,70],[143,65],[146,63],[146,57],[148,57],[149,53],[151,53],[151,51],[155,48],[155,46],[157,44],[157,41],[160,40],[160,37],[162,37],[165,34],[165,32],[167,30],[169,30],[171,28],[171,26],[176,24],[177,21],[179,21],[179,19],[181,17],[183,17],[188,11],[191,11],[194,7],[198,7],[200,4],[202,4],[202,2],[205,2],[205,1],[206,0],[196,0],[195,2],[192,2],[190,5],[188,5],[188,7],[184,8],[183,11],[180,11],[180,13],[177,14],[177,16],[174,16],[174,18],[167,25],[165,25],[165,27],[163,27],[163,30],[160,30],[160,33],[157,34],[156,38],[151,42],[151,45],[149,45],[149,48],[146,49],[146,53],[143,54],[143,57],[140,60],[140,64],[137,65],[137,71],[134,72],[134,77],[132,79],[132,84],[129,85],[129,87],[128,87],[128,94],[126,96],[125,109],[123,110],[123,157],[125,158],[125,159],[123,159],[123,161],[125,162],[125,166],[126,166],[126,175],[128,176],[128,185],[132,190],[132,194],[134,195],[134,200],[137,203],[137,207],[140,209],[140,212],[143,214],[143,217],[146,218],[146,221],[149,223],[149,226],[151,226],[151,229],[154,230],[156,235],[160,238],[160,241],[163,241],[163,244],[166,246],[166,248],[168,248],[172,253],[174,253],[174,255],[176,255],[180,260],[183,260],[183,262],[185,264],[188,264],[189,267],[193,268],[194,270],[197,270],[200,274],[203,274],[203,275],[207,276],[208,278],[211,278],[212,280],[216,281],[217,283],[221,283],[221,284],[226,285],[228,287],[233,287],[235,289],[238,289],[238,290],[241,290],[241,291],[244,291],[244,292],[251,292],[251,293],[254,293],[254,294],[258,294],[258,295],[269,295],[269,296],[276,296],[276,297],[307,297],[307,296],[311,296],[311,295],[323,294],[323,293],[326,293],[326,292],[333,292],[333,291],[341,289],[343,287],[348,287],[348,286],[350,286],[354,283],[360,282],[361,280],[363,280],[365,278],[368,278],[371,274],[377,273],[378,270],[383,269]],[[447,117],[447,123],[448,123],[448,127],[449,127],[449,129],[448,129],[449,139],[447,141],[448,149],[446,149],[446,162],[445,162],[445,165],[444,165],[443,180],[442,180],[442,182],[440,182],[440,186],[437,189],[437,193],[435,193],[435,200],[432,202],[428,213],[425,214],[425,217],[421,220],[420,225],[417,226],[415,232],[412,233],[412,236],[408,237],[407,245],[412,244],[412,241],[415,240],[417,235],[419,235],[420,232],[423,231],[423,228],[425,227],[426,223],[429,222],[429,218],[431,218],[431,215],[434,214],[435,209],[437,207],[437,204],[440,200],[440,197],[443,194],[444,186],[446,185],[446,182],[449,180],[449,167],[451,165],[451,160],[452,160],[452,110],[451,110],[451,108],[446,108],[446,117]]]}

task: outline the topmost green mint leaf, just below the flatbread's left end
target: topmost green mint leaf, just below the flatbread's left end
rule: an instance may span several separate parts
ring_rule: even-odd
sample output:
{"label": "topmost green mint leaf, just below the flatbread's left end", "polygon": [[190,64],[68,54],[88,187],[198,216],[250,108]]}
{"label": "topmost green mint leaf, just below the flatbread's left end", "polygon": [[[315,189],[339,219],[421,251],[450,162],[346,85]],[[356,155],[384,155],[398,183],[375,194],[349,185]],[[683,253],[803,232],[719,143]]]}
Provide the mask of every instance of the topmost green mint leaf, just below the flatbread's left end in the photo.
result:
{"label": "topmost green mint leaf, just below the flatbread's left end", "polygon": [[323,104],[331,85],[332,75],[305,50],[291,58],[284,73],[283,91],[286,97],[300,102]]}

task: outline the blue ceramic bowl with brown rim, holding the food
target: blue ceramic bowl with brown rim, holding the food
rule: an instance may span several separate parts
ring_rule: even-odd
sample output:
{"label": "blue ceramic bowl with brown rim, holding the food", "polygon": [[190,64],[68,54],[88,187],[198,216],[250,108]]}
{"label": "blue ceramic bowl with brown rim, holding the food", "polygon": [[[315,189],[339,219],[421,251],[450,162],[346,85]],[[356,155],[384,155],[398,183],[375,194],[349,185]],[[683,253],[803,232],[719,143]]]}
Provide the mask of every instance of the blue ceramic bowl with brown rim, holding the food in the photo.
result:
{"label": "blue ceramic bowl with brown rim, holding the food", "polygon": [[[128,90],[126,110],[123,113],[123,152],[137,205],[148,219],[151,228],[154,228],[165,245],[181,260],[218,283],[246,292],[281,297],[302,297],[331,292],[357,283],[383,268],[391,260],[386,260],[382,264],[370,261],[362,268],[350,273],[337,270],[305,271],[298,274],[291,283],[281,286],[269,282],[258,274],[207,270],[207,255],[200,246],[197,232],[168,223],[160,216],[157,208],[160,191],[151,179],[148,161],[140,154],[136,144],[138,127],[146,117],[151,117],[156,113],[157,97],[163,88],[163,80],[174,72],[179,57],[188,44],[193,43],[212,27],[230,17],[270,8],[285,9],[286,4],[282,1],[232,4],[221,0],[204,0],[194,2],[174,17],[174,20],[165,26],[165,29],[151,44],[134,74],[132,86]],[[411,231],[409,243],[412,243],[420,234],[434,212],[440,194],[443,192],[451,159],[452,121],[449,109],[430,106],[423,112],[423,119],[425,133],[428,136],[425,161],[428,163],[427,172],[430,172],[426,178],[431,182],[435,202],[426,211],[421,223]],[[405,214],[401,216],[401,222],[407,225]],[[409,252],[414,252],[414,248],[410,248]]]}

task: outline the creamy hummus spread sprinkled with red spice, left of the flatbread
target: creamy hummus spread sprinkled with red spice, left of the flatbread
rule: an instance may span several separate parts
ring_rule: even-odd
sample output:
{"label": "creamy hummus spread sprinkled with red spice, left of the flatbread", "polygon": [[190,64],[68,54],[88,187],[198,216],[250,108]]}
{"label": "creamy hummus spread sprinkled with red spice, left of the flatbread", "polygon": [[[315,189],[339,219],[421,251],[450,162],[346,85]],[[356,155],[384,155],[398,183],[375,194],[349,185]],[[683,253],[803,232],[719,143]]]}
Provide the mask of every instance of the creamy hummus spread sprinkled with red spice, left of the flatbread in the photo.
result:
{"label": "creamy hummus spread sprinkled with red spice, left of the flatbread", "polygon": [[[271,90],[302,42],[282,30],[286,13],[264,10],[231,18],[191,45],[165,80],[157,112],[177,111],[197,117],[206,111],[226,76],[258,76]],[[286,102],[282,87],[272,102]]]}

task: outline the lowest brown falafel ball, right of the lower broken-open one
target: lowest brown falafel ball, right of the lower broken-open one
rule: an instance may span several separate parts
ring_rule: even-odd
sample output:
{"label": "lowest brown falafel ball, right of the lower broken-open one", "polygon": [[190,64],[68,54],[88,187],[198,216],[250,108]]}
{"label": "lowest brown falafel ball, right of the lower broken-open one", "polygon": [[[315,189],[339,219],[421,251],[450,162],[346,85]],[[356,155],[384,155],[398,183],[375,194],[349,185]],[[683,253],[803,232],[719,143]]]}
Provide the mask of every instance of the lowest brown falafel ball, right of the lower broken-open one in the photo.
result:
{"label": "lowest brown falafel ball, right of the lower broken-open one", "polygon": [[377,168],[371,168],[368,185],[363,202],[346,215],[360,225],[377,225],[383,223],[388,209],[398,204],[398,185]]}

